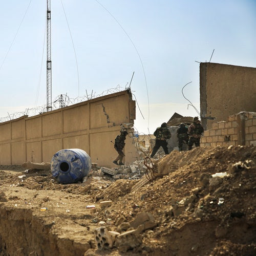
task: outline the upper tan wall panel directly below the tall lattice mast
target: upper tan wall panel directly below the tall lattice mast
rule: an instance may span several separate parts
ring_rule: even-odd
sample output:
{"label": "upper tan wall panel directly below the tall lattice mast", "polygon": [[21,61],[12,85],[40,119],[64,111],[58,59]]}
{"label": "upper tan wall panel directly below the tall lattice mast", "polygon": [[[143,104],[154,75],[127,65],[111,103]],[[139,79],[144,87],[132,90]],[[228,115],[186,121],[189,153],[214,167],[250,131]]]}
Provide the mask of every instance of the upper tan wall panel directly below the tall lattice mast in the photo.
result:
{"label": "upper tan wall panel directly below the tall lattice mast", "polygon": [[61,134],[62,112],[42,116],[42,137]]}

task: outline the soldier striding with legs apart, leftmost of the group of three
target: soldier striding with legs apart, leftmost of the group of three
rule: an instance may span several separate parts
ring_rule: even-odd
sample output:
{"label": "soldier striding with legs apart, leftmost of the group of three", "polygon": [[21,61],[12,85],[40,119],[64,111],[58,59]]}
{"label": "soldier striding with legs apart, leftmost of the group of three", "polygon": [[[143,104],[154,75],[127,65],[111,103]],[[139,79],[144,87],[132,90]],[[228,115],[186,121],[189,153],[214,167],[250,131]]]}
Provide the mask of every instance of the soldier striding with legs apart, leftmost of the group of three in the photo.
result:
{"label": "soldier striding with legs apart, leftmost of the group of three", "polygon": [[155,156],[160,146],[163,148],[164,153],[168,155],[169,154],[168,148],[167,148],[168,143],[166,140],[169,139],[171,135],[167,127],[167,124],[162,123],[161,127],[158,127],[157,130],[154,132],[154,136],[156,136],[156,144],[153,148],[151,157]]}

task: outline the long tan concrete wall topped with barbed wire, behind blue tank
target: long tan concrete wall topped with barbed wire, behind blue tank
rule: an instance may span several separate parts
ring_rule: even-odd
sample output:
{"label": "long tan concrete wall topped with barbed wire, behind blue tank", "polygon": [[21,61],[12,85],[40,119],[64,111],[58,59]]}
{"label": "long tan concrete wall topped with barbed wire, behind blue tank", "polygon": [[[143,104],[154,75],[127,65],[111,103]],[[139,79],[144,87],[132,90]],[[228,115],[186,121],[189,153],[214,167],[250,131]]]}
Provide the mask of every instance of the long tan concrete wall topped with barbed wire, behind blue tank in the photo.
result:
{"label": "long tan concrete wall topped with barbed wire, behind blue tank", "polygon": [[[134,123],[134,119],[135,101],[129,91],[122,91],[0,123],[0,164],[50,162],[59,150],[81,148],[93,162],[113,166],[117,152],[111,140],[120,134],[121,123]],[[132,163],[137,160],[136,148],[127,137],[125,162]]]}

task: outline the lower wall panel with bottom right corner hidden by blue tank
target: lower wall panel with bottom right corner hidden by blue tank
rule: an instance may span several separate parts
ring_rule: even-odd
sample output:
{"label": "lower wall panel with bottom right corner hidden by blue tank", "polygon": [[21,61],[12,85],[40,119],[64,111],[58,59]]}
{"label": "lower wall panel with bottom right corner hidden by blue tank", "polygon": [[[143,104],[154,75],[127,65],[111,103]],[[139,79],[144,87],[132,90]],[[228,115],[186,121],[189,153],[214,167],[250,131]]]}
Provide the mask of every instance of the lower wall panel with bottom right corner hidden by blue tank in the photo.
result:
{"label": "lower wall panel with bottom right corner hidden by blue tank", "polygon": [[62,150],[61,139],[42,141],[42,162],[50,162],[53,155]]}

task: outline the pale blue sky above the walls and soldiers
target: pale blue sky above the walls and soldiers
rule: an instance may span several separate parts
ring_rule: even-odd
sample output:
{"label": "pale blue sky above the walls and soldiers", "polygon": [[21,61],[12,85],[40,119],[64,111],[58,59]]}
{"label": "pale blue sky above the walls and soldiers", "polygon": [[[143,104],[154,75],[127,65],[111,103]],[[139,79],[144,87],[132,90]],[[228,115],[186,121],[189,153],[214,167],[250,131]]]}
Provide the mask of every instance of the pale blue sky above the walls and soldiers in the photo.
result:
{"label": "pale blue sky above the walls and soldiers", "polygon": [[[153,133],[175,112],[198,115],[187,109],[181,89],[192,81],[183,92],[200,110],[196,61],[209,61],[214,49],[211,62],[256,68],[255,0],[62,4],[51,1],[52,101],[60,94],[77,98],[86,90],[100,95],[125,88],[135,72],[131,89],[144,116],[137,108],[139,133]],[[46,104],[46,5],[46,0],[1,3],[0,117]]]}

